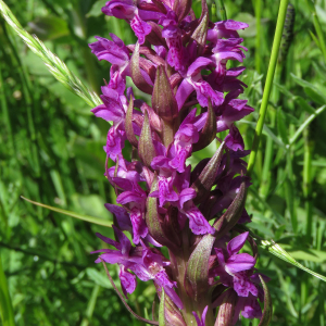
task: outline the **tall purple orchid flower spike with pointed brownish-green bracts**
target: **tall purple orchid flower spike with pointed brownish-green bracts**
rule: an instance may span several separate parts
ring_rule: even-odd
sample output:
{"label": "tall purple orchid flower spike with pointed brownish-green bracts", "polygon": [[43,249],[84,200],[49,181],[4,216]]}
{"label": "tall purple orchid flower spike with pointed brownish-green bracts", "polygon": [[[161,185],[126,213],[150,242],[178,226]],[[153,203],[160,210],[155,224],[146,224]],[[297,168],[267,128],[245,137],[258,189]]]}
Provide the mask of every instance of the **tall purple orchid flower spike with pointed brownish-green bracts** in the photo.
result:
{"label": "tall purple orchid flower spike with pointed brownish-green bracts", "polygon": [[[263,319],[258,299],[266,297],[260,285],[265,290],[266,277],[254,268],[255,242],[240,227],[250,222],[242,160],[250,151],[235,125],[253,109],[238,99],[244,67],[227,67],[229,60],[243,61],[247,49],[237,30],[248,25],[211,22],[205,0],[199,18],[191,0],[111,0],[102,12],[128,22],[138,41],[126,46],[110,34],[111,40],[97,37],[90,45],[112,64],[103,104],[92,112],[113,123],[105,176],[120,204],[105,204],[115,240],[97,234],[113,249],[95,251],[101,252],[96,262],[118,264],[126,298],[137,278],[153,280],[164,300],[164,325]],[[126,89],[126,77],[151,96],[151,105]],[[216,137],[226,130],[224,139]],[[191,170],[187,159],[214,140],[215,154]],[[109,160],[115,163],[110,168]],[[239,253],[247,240],[253,256]]]}

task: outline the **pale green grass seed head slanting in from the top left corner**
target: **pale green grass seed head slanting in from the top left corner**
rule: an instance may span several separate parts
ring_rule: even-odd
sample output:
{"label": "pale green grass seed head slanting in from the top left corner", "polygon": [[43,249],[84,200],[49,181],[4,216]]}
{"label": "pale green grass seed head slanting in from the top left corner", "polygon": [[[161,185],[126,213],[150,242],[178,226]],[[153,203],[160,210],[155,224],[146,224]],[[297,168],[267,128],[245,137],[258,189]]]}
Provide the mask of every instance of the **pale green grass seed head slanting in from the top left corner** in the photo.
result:
{"label": "pale green grass seed head slanting in from the top left corner", "polygon": [[90,106],[101,104],[97,93],[90,91],[55,54],[53,54],[35,35],[27,33],[7,4],[0,0],[0,11],[7,23],[24,40],[27,47],[47,65],[49,72],[70,90],[85,100]]}

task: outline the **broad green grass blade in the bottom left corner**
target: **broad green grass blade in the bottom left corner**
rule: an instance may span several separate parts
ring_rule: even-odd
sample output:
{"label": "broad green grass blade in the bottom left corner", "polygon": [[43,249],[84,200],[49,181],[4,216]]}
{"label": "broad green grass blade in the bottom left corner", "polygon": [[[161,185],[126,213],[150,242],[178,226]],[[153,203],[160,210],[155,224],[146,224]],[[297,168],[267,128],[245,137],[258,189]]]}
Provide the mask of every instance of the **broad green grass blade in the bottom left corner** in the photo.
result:
{"label": "broad green grass blade in the bottom left corner", "polygon": [[0,254],[0,315],[3,326],[14,326],[14,314]]}

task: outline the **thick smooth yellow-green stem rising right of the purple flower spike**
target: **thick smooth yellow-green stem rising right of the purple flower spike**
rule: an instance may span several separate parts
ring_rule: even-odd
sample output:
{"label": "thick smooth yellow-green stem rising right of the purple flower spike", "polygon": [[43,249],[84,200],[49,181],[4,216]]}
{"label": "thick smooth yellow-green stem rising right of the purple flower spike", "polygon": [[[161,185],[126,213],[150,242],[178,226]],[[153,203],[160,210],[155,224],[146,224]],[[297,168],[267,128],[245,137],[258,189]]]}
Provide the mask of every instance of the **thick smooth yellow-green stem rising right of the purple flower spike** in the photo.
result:
{"label": "thick smooth yellow-green stem rising right of the purple flower spike", "polygon": [[286,18],[288,3],[289,3],[289,0],[280,0],[275,37],[274,37],[272,54],[271,54],[271,60],[269,60],[269,65],[268,65],[268,71],[267,71],[266,84],[265,84],[265,88],[264,88],[262,104],[261,104],[261,109],[260,109],[260,116],[259,116],[259,121],[256,124],[255,135],[254,135],[253,145],[252,145],[249,163],[248,163],[248,173],[247,173],[248,175],[250,175],[252,173],[252,168],[254,165],[258,148],[259,148],[262,131],[263,131],[263,126],[264,126],[264,121],[265,121],[265,116],[266,116],[269,95],[271,95],[271,90],[272,90],[272,86],[273,86],[273,79],[274,79],[274,74],[275,74],[277,57],[278,57],[278,51],[279,51],[279,46],[280,46],[280,40],[281,40],[283,28],[284,28],[284,23],[285,23],[285,18]]}

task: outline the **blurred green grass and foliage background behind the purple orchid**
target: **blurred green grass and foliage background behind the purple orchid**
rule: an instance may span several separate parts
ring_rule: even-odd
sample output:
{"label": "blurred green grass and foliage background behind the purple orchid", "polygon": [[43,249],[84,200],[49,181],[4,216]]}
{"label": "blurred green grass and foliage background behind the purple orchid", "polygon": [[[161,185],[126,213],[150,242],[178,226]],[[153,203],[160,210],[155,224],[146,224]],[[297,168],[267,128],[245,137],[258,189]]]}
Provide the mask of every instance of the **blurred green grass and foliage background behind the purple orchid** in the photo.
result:
{"label": "blurred green grass and foliage background behind the purple orchid", "polygon": [[[126,43],[135,41],[125,22],[101,14],[103,0],[5,2],[28,32],[98,92],[102,78],[109,79],[110,65],[97,62],[87,43],[95,41],[95,35],[108,37],[109,33]],[[256,111],[239,124],[247,148],[258,120],[276,3],[224,1],[228,18],[250,24],[241,32],[249,50],[242,76],[248,88],[242,98]],[[326,1],[291,3],[296,9],[293,41],[277,67],[247,209],[253,215],[250,227],[254,233],[274,239],[304,266],[325,275],[326,113],[322,106],[326,104],[326,58],[319,32],[326,34]],[[200,1],[193,5],[199,15]],[[0,261],[15,324],[140,325],[89,254],[103,248],[95,233],[110,236],[111,230],[20,199],[23,195],[111,220],[103,208],[114,201],[103,176],[108,124],[95,118],[90,108],[49,74],[2,18],[0,41]],[[215,149],[212,143],[196,153],[192,163]],[[272,325],[325,326],[326,285],[263,250],[260,254],[259,268],[271,277]],[[116,267],[109,268],[118,284]],[[139,283],[128,302],[145,316],[151,315],[153,300],[153,286]],[[250,323],[242,322],[258,325]]]}

